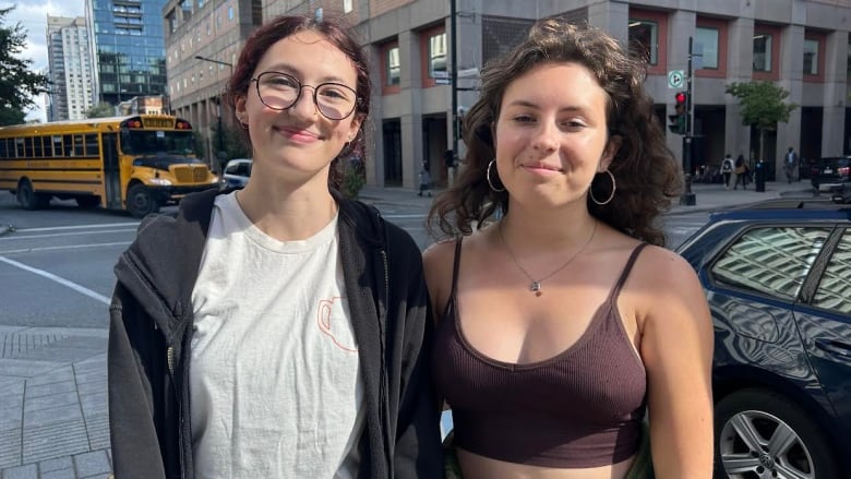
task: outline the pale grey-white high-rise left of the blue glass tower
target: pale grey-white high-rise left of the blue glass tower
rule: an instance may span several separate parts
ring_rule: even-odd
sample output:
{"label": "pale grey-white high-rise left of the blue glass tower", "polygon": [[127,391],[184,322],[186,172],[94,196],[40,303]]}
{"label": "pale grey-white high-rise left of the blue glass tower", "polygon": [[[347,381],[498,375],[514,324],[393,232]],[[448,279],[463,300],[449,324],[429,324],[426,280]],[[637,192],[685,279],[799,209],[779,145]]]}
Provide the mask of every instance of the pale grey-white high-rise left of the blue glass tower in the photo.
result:
{"label": "pale grey-white high-rise left of the blue glass tower", "polygon": [[92,49],[85,19],[47,16],[49,108],[47,121],[80,120],[92,106]]}

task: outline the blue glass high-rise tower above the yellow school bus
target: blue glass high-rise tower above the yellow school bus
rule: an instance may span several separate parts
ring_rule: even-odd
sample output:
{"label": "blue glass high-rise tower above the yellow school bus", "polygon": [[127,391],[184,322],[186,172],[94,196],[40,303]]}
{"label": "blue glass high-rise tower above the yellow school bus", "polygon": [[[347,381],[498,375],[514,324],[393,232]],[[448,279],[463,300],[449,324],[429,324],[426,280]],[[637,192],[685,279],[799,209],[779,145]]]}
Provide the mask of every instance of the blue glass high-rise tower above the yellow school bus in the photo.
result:
{"label": "blue glass high-rise tower above the yellow school bus", "polygon": [[166,93],[165,0],[86,0],[96,103]]}

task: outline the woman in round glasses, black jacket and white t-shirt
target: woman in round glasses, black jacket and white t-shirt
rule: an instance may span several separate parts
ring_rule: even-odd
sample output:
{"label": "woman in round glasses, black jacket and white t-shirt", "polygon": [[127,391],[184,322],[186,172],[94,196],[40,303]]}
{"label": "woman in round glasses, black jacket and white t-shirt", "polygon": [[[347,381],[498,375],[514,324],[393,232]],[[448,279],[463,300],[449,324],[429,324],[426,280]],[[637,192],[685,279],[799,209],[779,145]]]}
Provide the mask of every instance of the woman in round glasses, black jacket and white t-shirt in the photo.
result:
{"label": "woman in round glasses, black jacket and white t-shirt", "polygon": [[368,71],[327,19],[245,41],[226,97],[251,179],[146,218],[116,266],[116,477],[442,477],[420,251],[338,192]]}

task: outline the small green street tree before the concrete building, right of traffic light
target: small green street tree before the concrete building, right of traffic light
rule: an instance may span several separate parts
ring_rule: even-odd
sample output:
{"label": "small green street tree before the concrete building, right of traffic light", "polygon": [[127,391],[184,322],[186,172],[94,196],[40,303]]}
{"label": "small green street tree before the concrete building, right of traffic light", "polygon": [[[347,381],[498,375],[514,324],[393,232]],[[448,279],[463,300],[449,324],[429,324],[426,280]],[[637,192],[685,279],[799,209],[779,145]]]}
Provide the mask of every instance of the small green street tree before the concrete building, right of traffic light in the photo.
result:
{"label": "small green street tree before the concrete building, right of traffic light", "polygon": [[783,103],[789,92],[771,82],[730,83],[724,92],[739,98],[742,124],[756,128],[759,132],[757,158],[765,159],[765,132],[777,130],[779,122],[788,122],[798,105]]}

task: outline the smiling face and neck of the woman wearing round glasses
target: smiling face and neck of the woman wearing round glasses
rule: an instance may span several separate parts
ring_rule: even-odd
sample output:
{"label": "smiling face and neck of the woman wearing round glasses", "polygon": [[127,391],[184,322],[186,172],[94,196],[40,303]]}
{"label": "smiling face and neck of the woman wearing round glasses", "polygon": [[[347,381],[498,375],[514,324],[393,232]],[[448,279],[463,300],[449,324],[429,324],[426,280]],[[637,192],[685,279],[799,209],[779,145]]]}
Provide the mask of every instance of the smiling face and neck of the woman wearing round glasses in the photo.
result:
{"label": "smiling face and neck of the woman wearing round glasses", "polygon": [[296,104],[285,110],[264,105],[254,81],[247,95],[236,100],[237,117],[249,125],[254,176],[272,175],[297,183],[320,179],[324,185],[331,161],[357,135],[361,117],[357,112],[343,120],[324,117],[313,101],[311,85],[337,83],[356,89],[355,65],[324,36],[302,31],[275,43],[252,76],[264,72],[286,73],[305,86]]}

